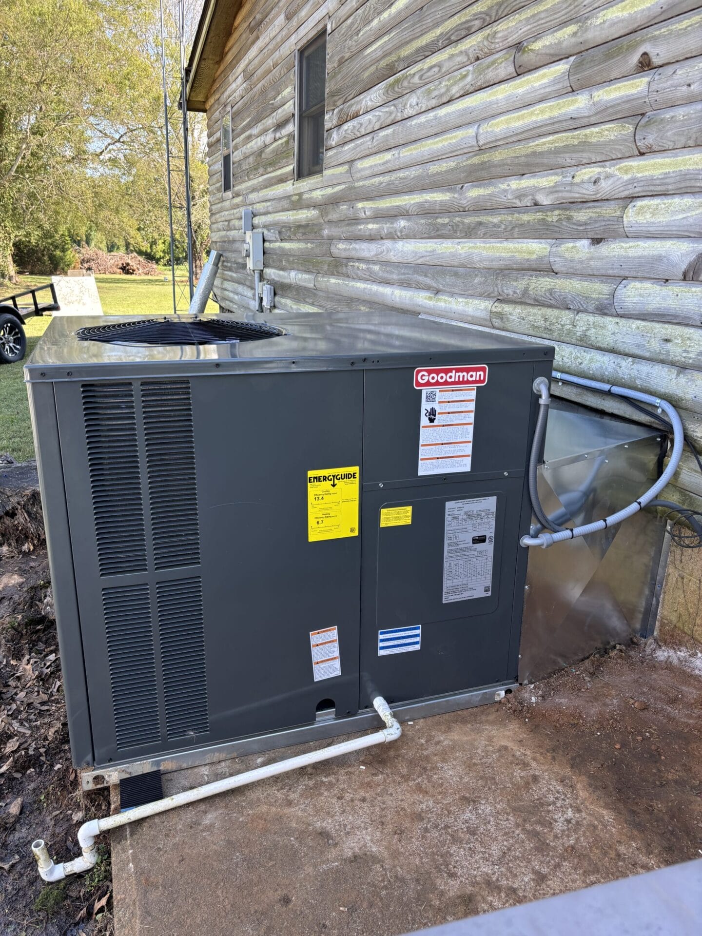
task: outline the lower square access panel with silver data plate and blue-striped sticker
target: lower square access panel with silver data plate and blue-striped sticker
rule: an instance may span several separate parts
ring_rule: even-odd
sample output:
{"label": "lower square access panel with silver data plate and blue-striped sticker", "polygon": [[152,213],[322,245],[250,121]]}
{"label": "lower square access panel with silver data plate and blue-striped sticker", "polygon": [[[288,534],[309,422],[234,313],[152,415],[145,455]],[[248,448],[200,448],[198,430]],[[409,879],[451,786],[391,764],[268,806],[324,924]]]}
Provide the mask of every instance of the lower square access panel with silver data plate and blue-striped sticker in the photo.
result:
{"label": "lower square access panel with silver data plate and blue-striped sticker", "polygon": [[[366,491],[361,706],[513,679],[522,478]],[[411,508],[411,511],[410,509]],[[384,525],[387,512],[404,522]],[[376,573],[376,574],[375,574]]]}

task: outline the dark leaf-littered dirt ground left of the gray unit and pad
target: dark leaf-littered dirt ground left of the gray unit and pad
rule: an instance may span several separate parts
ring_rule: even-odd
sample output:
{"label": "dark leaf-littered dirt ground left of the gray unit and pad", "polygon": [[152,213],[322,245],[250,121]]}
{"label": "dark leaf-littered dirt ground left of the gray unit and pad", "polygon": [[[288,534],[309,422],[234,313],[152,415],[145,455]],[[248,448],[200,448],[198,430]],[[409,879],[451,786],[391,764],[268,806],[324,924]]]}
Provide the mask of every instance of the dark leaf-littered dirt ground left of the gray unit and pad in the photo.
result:
{"label": "dark leaf-littered dirt ground left of the gray unit and pad", "polygon": [[46,552],[0,559],[0,933],[85,936],[111,929],[110,849],[95,870],[44,885],[31,842],[51,855],[76,849],[78,827],[109,811],[83,802],[71,767]]}

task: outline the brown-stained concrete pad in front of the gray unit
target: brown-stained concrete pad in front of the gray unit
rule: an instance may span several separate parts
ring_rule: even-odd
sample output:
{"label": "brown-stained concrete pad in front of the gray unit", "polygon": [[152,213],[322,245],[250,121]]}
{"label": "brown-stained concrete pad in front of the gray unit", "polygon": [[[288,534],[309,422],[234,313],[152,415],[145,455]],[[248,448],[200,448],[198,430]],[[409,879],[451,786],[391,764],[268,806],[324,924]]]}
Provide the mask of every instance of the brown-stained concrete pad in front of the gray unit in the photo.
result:
{"label": "brown-stained concrete pad in front of the gray unit", "polygon": [[[125,826],[116,934],[394,936],[695,857],[700,710],[698,674],[617,652]],[[164,793],[309,747],[181,770]]]}

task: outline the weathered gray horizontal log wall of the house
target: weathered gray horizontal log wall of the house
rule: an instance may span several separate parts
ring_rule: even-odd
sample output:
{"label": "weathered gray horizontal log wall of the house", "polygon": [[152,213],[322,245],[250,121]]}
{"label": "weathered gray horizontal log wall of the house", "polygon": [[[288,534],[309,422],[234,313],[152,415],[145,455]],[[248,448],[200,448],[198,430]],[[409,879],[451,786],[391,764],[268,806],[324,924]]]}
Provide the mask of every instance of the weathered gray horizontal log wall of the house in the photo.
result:
{"label": "weathered gray horizontal log wall of the house", "polygon": [[[325,28],[325,171],[296,182],[295,52]],[[702,0],[243,0],[208,126],[224,306],[254,307],[251,207],[279,311],[548,341],[675,402],[702,445]],[[676,485],[700,503],[689,455]]]}

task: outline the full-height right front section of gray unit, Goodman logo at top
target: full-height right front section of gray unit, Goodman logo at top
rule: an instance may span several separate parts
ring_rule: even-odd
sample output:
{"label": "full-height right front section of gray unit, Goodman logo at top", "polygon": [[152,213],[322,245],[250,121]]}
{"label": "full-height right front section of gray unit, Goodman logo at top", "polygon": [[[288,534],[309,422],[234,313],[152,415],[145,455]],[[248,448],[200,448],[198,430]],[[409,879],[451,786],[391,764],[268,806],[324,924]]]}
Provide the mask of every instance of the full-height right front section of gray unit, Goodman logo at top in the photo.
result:
{"label": "full-height right front section of gray unit, Goodman logo at top", "polygon": [[361,707],[517,676],[541,364],[457,358],[365,375]]}

